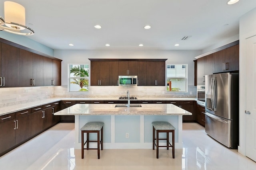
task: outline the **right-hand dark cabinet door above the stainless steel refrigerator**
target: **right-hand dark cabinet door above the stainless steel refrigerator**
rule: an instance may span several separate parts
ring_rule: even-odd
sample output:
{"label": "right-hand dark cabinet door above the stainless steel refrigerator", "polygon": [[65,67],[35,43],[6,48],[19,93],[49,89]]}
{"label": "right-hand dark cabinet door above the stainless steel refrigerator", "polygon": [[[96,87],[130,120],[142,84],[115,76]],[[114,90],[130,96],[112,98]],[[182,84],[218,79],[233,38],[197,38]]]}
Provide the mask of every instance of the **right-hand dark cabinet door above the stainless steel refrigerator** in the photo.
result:
{"label": "right-hand dark cabinet door above the stainless steel refrigerator", "polygon": [[239,44],[225,49],[225,71],[239,70]]}

